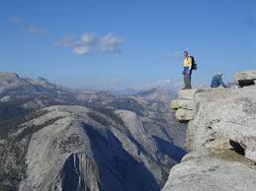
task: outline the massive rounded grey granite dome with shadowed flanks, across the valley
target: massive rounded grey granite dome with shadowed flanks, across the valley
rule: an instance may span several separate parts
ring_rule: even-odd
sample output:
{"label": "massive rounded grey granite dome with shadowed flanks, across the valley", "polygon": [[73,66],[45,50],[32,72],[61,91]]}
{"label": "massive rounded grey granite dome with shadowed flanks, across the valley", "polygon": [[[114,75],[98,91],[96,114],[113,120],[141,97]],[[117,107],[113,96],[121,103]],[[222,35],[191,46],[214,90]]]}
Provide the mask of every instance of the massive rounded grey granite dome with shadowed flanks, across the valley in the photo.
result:
{"label": "massive rounded grey granite dome with shadowed flanks, across the valley", "polygon": [[132,111],[116,110],[116,119],[83,106],[40,112],[11,135],[28,144],[19,190],[159,190],[176,163],[158,155],[160,143]]}

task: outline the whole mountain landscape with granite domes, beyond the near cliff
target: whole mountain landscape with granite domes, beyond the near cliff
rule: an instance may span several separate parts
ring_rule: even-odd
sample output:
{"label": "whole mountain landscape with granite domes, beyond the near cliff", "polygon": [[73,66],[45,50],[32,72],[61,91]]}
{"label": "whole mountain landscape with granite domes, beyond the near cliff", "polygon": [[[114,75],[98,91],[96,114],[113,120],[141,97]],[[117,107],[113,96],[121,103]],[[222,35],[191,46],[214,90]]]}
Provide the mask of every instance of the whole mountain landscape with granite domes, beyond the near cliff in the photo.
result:
{"label": "whole mountain landscape with granite domes, beyond the near cliff", "polygon": [[159,190],[186,153],[173,96],[79,91],[0,73],[1,190]]}

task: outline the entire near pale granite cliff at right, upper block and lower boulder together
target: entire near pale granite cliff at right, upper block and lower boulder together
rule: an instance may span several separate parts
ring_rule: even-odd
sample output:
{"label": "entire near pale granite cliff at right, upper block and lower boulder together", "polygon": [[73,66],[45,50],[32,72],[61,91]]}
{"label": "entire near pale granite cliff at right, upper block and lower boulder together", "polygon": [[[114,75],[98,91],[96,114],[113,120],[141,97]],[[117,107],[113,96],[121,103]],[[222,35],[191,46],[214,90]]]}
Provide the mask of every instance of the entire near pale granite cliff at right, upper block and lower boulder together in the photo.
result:
{"label": "entire near pale granite cliff at right, upper block and lower boulder together", "polygon": [[191,152],[171,169],[162,190],[255,190],[256,86],[198,90],[192,101]]}

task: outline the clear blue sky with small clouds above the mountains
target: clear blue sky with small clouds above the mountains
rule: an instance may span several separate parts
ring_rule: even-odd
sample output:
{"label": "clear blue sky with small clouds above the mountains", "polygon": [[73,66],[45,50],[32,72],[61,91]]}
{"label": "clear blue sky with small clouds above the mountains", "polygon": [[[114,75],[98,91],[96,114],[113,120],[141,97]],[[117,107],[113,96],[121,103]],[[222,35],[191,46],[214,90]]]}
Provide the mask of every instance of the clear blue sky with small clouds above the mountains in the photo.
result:
{"label": "clear blue sky with small clouds above the mountains", "polygon": [[[2,0],[0,71],[68,87],[128,88],[182,81],[182,52],[199,65],[194,84],[256,68],[253,0]],[[170,79],[170,80],[168,80]]]}

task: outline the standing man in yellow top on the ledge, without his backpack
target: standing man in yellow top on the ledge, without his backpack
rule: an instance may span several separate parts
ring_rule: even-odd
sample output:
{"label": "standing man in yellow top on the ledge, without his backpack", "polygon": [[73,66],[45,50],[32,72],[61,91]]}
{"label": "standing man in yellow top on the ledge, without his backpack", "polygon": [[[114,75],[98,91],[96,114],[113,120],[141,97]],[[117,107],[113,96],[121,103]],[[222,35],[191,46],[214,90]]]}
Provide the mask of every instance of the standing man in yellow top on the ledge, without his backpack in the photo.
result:
{"label": "standing man in yellow top on the ledge, without his backpack", "polygon": [[183,76],[185,87],[182,90],[191,89],[192,62],[192,57],[189,56],[188,51],[184,51]]}

